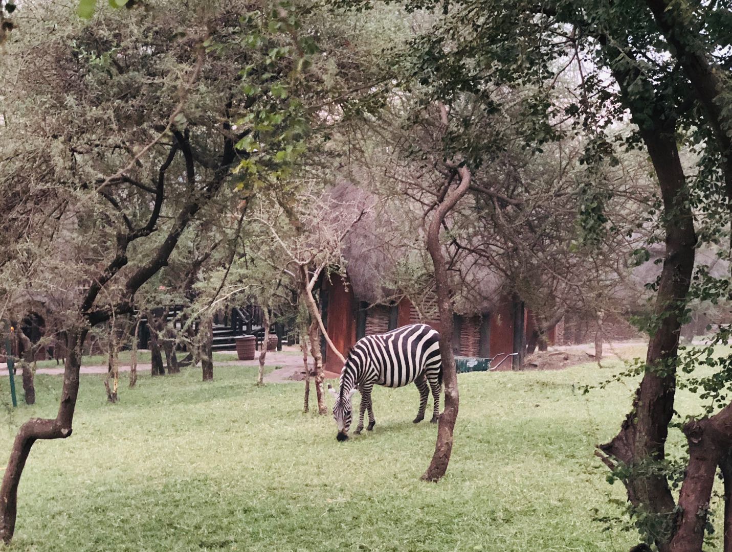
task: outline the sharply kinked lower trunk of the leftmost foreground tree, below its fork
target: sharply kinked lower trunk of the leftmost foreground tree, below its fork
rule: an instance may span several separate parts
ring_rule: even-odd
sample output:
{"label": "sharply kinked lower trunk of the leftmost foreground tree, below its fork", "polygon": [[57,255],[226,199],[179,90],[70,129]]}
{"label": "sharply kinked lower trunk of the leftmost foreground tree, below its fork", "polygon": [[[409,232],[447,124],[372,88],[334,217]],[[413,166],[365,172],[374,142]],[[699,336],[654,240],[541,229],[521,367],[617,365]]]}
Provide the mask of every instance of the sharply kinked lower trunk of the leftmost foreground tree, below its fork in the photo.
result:
{"label": "sharply kinked lower trunk of the leftmost foreground tree, below its fork", "polygon": [[15,436],[10,459],[0,485],[0,540],[10,542],[15,532],[15,516],[18,512],[18,484],[23,466],[38,439],[65,439],[71,435],[74,408],[79,390],[81,346],[86,339],[85,328],[67,331],[67,360],[64,365],[64,385],[61,402],[55,419],[31,418],[20,426]]}

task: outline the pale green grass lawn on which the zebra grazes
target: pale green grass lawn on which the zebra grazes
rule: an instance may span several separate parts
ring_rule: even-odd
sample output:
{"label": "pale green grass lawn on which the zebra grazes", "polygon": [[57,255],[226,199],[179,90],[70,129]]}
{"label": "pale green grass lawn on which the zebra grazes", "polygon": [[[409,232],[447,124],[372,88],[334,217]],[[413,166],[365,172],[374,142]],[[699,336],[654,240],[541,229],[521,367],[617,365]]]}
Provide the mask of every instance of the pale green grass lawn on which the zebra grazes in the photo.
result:
{"label": "pale green grass lawn on which the zebra grazes", "polygon": [[[193,368],[143,376],[135,390],[124,374],[114,405],[102,377],[82,376],[73,435],[31,452],[10,550],[627,551],[637,537],[595,521],[624,494],[592,453],[633,385],[578,390],[610,371],[461,374],[437,484],[419,480],[436,426],[411,423],[414,386],[377,387],[375,431],[339,443],[330,416],[302,414],[302,384],[256,387],[255,368],[217,367],[208,384]],[[23,420],[55,415],[60,384],[38,376],[38,404],[6,416],[3,463]]]}

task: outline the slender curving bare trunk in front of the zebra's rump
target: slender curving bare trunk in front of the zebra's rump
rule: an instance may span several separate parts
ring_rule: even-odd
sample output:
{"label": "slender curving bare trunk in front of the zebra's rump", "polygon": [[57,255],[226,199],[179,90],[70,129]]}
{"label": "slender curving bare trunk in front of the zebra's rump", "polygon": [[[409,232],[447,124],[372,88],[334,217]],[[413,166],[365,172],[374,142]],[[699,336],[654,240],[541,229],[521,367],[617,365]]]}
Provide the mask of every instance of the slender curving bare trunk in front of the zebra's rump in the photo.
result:
{"label": "slender curving bare trunk in front of the zebra's rump", "polygon": [[432,257],[435,267],[435,284],[437,292],[437,306],[440,313],[440,355],[442,357],[442,381],[445,387],[445,407],[437,428],[437,442],[435,453],[422,475],[423,480],[438,481],[445,472],[452,454],[452,433],[455,421],[458,420],[458,373],[455,369],[455,357],[452,354],[452,325],[455,314],[450,298],[447,264],[440,244],[440,228],[447,213],[455,207],[461,197],[468,191],[471,173],[467,167],[458,169],[460,185],[455,192],[447,194],[438,204],[435,214],[427,228],[427,252]]}

